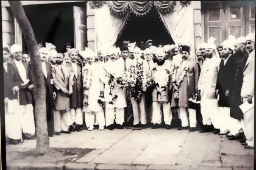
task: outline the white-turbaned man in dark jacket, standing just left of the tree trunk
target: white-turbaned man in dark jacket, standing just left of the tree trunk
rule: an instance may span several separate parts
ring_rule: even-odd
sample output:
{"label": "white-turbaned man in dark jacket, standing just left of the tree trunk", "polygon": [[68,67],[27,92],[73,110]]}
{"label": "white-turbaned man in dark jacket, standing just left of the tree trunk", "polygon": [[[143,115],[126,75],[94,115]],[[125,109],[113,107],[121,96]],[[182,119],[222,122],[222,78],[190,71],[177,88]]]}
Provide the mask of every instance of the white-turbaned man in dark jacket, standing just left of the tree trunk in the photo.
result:
{"label": "white-turbaned man in dark jacket, standing just left of the tree trunk", "polygon": [[22,62],[22,48],[18,44],[13,44],[10,48],[14,60],[11,63],[15,79],[13,91],[18,91],[20,101],[21,128],[25,140],[35,139],[35,121],[33,113],[33,97],[31,91],[34,90],[32,72],[28,63]]}

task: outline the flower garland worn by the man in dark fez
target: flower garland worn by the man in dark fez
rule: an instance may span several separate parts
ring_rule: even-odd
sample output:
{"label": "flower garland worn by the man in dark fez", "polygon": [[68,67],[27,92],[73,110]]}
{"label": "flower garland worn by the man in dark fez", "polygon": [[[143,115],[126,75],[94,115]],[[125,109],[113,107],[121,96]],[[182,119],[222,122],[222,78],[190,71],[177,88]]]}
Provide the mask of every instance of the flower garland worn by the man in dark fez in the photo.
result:
{"label": "flower garland worn by the man in dark fez", "polygon": [[[188,62],[186,63],[185,67],[182,70],[182,74],[180,75],[179,79],[176,81],[176,75],[177,75],[177,69],[179,66],[175,66],[173,69],[173,75],[172,75],[172,82],[173,85],[173,92],[174,92],[174,99],[179,99],[179,87],[180,83],[183,81],[183,78],[187,75],[188,76],[188,67],[187,67]],[[189,78],[188,78],[189,81]],[[189,82],[188,82],[189,84]]]}

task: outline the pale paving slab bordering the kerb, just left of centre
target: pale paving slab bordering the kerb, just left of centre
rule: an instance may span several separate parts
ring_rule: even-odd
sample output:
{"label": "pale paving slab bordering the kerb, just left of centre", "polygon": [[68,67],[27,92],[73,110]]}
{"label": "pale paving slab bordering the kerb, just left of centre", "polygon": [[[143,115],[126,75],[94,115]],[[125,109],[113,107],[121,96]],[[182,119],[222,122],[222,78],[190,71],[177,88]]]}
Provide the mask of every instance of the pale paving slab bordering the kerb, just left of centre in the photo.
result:
{"label": "pale paving slab bordering the kerb, just left of centre", "polygon": [[116,150],[116,149],[107,149],[98,157],[94,158],[91,163],[106,163],[106,164],[126,164],[131,165],[132,161],[138,157],[141,153],[141,150]]}

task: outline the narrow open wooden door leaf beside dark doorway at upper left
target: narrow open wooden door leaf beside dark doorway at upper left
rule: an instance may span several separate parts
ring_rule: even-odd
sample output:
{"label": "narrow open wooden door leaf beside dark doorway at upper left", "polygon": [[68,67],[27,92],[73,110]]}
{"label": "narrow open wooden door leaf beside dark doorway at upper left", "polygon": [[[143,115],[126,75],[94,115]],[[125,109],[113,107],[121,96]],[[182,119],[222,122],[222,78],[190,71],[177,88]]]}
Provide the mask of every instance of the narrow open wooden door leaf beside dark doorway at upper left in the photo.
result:
{"label": "narrow open wooden door leaf beside dark doorway at upper left", "polygon": [[86,8],[73,7],[74,11],[74,47],[85,50],[87,46],[87,15]]}

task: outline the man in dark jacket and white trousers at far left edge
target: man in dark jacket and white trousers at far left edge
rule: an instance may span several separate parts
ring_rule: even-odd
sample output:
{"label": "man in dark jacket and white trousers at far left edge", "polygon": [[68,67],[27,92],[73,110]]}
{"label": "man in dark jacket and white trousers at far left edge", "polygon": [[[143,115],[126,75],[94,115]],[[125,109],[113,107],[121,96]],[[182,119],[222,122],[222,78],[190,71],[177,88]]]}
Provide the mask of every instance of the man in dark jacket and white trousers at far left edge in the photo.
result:
{"label": "man in dark jacket and white trousers at far left edge", "polygon": [[13,93],[15,81],[12,65],[8,63],[10,51],[7,47],[2,49],[4,62],[4,104],[5,104],[5,136],[9,138],[9,144],[19,144],[21,140],[21,121],[18,103],[18,93]]}

